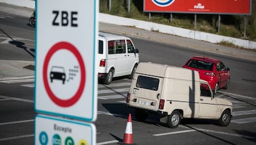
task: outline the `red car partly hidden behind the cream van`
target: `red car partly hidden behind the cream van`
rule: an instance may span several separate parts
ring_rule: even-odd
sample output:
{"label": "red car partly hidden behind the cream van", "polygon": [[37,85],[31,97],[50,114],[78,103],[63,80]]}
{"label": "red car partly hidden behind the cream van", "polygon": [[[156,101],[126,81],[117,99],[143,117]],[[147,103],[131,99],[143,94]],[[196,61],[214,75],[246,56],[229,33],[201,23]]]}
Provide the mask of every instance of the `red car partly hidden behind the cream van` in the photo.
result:
{"label": "red car partly hidden behind the cream van", "polygon": [[230,79],[229,68],[220,60],[207,57],[192,57],[183,68],[192,69],[199,72],[200,79],[206,80],[216,93],[220,88],[228,88]]}

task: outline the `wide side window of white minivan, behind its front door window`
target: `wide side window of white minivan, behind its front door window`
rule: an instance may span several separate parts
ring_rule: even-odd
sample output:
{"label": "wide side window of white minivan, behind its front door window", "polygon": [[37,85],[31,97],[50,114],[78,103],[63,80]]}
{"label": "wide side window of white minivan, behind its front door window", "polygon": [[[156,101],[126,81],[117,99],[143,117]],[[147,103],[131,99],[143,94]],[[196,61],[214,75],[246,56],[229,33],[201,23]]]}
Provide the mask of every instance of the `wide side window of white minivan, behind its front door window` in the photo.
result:
{"label": "wide side window of white minivan, behind its front door window", "polygon": [[108,41],[108,53],[126,53],[126,41],[125,40],[116,40]]}

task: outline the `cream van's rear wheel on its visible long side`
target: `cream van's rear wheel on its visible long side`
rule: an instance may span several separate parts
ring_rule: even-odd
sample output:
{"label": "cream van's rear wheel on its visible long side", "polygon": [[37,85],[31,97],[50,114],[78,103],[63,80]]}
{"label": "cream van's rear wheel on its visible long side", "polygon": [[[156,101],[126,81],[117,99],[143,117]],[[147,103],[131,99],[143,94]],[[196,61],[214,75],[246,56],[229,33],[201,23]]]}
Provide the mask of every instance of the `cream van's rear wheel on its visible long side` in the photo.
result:
{"label": "cream van's rear wheel on its visible long side", "polygon": [[173,111],[167,118],[167,125],[169,128],[177,128],[181,123],[181,113],[179,111]]}

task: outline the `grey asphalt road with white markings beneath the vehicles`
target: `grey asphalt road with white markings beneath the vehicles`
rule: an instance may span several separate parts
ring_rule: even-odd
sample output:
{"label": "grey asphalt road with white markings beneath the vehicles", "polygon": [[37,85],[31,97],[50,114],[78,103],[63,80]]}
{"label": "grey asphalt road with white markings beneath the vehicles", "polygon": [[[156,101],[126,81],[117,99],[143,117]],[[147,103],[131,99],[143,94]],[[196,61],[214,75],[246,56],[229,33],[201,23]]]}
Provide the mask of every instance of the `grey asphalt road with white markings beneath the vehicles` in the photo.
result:
{"label": "grey asphalt road with white markings beneath the vehicles", "polygon": [[[33,144],[34,138],[38,138],[34,136],[35,86],[33,78],[24,78],[24,75],[33,76],[34,73],[35,31],[27,25],[28,18],[7,14],[0,16],[0,72],[5,72],[0,80],[0,144]],[[100,29],[103,28],[100,25]],[[216,97],[226,98],[234,104],[233,119],[228,127],[218,127],[212,120],[184,120],[178,128],[171,129],[161,124],[158,116],[151,115],[145,122],[138,122],[132,117],[135,144],[256,143],[255,61],[154,42],[137,36],[132,37],[132,40],[140,50],[140,61],[182,66],[194,55],[223,60],[231,69],[231,82],[228,90],[219,90]],[[13,79],[13,76],[17,77]],[[124,104],[129,84],[129,79],[119,77],[111,85],[98,85],[98,118],[95,122],[97,144],[122,142],[127,116],[134,112]]]}

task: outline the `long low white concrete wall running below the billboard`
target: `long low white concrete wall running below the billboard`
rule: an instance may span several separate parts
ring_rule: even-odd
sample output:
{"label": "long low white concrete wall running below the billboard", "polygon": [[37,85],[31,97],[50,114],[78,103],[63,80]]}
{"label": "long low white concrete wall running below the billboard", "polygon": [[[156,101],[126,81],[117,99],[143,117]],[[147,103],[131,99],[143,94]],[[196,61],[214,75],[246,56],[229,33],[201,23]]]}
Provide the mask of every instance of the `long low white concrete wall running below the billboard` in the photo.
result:
{"label": "long low white concrete wall running below the billboard", "polygon": [[[0,2],[35,9],[35,1],[33,0],[0,0]],[[174,26],[161,25],[153,22],[144,22],[141,20],[134,20],[132,18],[117,17],[114,15],[100,13],[99,21],[115,25],[134,26],[135,28],[145,29],[148,31],[158,31],[160,33],[173,34],[176,36],[187,37],[190,39],[197,39],[200,41],[206,41],[211,43],[218,43],[223,41],[230,42],[234,45],[244,47],[246,49],[256,49],[256,42],[254,41],[247,41],[244,39],[237,39],[234,37],[226,37],[217,34],[204,33],[200,31],[194,31],[191,29],[177,28]]]}

